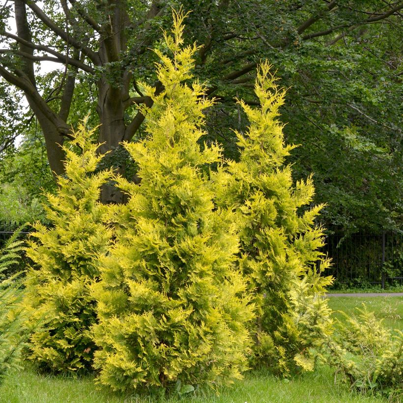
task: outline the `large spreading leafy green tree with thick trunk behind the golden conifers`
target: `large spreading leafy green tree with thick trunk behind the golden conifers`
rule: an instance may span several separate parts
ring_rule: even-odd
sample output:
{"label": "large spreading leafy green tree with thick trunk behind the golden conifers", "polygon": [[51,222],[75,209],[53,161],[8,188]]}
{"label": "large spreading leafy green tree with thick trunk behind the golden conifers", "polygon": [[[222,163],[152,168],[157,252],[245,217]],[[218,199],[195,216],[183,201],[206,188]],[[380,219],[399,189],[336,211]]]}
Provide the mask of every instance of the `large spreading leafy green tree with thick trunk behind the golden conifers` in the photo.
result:
{"label": "large spreading leafy green tree with thick trunk behind the golden conifers", "polygon": [[[148,47],[169,24],[170,6],[178,4],[60,0],[41,6],[13,0],[1,8],[0,75],[27,97],[54,172],[63,171],[58,144],[83,109],[81,116],[97,111],[98,141],[106,142],[102,151],[142,137],[144,116],[134,106],[149,106],[151,99],[138,82],[161,90]],[[315,172],[316,201],[330,203],[325,220],[335,230],[397,228],[403,2],[222,0],[183,1],[183,6],[193,10],[189,42],[203,45],[197,73],[208,82],[208,95],[220,101],[207,116],[207,128],[214,127],[207,140],[218,139],[227,156],[236,156],[229,128],[244,131],[246,119],[240,109],[234,112],[233,98],[259,103],[254,72],[266,58],[291,87],[282,111],[290,123],[285,134],[289,142],[304,144],[292,157],[295,178]],[[16,34],[7,28],[9,16]],[[35,66],[47,60],[60,69],[44,76]],[[3,138],[11,144],[14,132],[5,123]],[[122,165],[117,157],[112,162]],[[104,200],[122,197],[111,189],[103,193]]]}

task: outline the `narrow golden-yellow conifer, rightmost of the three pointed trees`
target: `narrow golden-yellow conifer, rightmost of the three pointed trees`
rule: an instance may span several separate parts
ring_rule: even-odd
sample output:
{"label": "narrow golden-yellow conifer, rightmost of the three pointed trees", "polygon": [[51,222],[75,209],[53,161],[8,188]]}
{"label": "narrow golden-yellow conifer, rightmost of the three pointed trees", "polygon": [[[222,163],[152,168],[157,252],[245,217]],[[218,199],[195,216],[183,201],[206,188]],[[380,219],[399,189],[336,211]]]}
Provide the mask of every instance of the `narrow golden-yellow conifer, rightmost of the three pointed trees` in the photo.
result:
{"label": "narrow golden-yellow conifer, rightmost of the three pointed trees", "polygon": [[285,145],[283,124],[276,119],[285,91],[269,69],[262,63],[257,74],[260,108],[239,101],[250,125],[247,133],[236,133],[240,159],[217,175],[229,175],[228,185],[217,190],[223,205],[237,206],[239,264],[258,307],[252,329],[256,362],[287,375],[296,367],[313,369],[310,348],[330,331],[329,309],[320,294],[331,279],[315,269],[318,260],[321,270],[329,264],[318,251],[323,233],[314,223],[322,206],[308,208],[311,177],[293,185],[285,164],[293,146]]}

